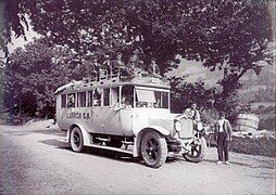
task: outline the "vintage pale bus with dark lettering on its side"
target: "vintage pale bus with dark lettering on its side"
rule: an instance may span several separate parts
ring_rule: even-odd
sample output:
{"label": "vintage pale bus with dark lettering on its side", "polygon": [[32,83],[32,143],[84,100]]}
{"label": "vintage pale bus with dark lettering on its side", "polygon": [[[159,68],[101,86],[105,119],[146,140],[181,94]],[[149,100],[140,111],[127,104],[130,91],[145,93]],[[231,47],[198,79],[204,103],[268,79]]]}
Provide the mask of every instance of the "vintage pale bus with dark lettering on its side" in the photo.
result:
{"label": "vintage pale bus with dark lettering on its side", "polygon": [[161,77],[85,78],[55,94],[58,125],[67,131],[74,152],[84,146],[113,150],[142,157],[153,168],[171,154],[193,162],[203,158],[201,129],[187,116],[170,112],[170,86]]}

